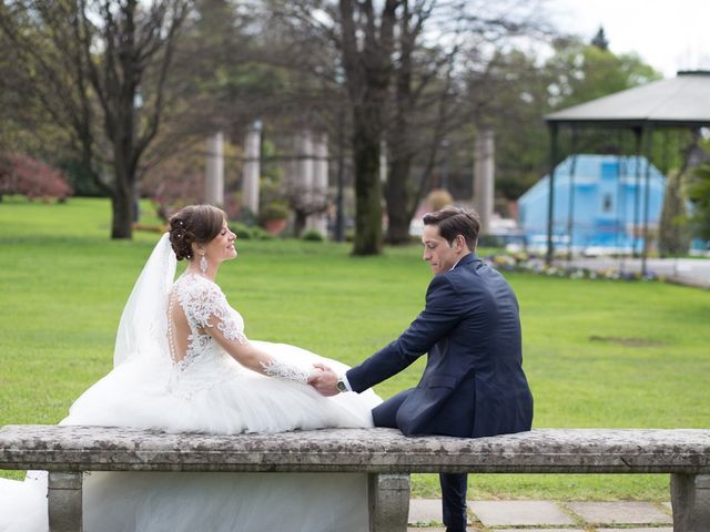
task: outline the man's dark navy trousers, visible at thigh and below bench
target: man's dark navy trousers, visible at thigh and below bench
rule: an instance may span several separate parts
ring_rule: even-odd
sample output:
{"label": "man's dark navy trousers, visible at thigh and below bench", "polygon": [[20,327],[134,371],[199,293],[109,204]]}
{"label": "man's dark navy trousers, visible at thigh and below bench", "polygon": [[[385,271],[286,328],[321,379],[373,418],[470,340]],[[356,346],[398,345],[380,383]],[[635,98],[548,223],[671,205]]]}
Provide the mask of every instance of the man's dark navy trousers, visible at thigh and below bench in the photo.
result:
{"label": "man's dark navy trousers, visible at thigh and below bench", "polygon": [[[373,409],[373,421],[375,427],[397,427],[397,411],[412,390],[404,390],[390,397],[378,407]],[[442,473],[439,474],[442,484],[442,510],[444,524],[447,532],[464,532],[466,530],[466,473]]]}

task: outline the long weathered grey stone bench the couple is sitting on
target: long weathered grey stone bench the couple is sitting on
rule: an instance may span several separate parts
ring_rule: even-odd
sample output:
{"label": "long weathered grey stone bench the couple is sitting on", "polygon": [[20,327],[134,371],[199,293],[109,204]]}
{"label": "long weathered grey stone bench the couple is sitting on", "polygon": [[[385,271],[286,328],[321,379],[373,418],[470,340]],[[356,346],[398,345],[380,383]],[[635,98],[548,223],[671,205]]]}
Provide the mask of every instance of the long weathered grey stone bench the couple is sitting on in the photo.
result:
{"label": "long weathered grey stone bench the couple is sitting on", "polygon": [[407,529],[409,473],[670,473],[676,532],[710,531],[710,430],[540,429],[479,439],[392,429],[169,434],[7,426],[0,469],[49,471],[52,532],[81,530],[83,471],[363,472],[371,531]]}

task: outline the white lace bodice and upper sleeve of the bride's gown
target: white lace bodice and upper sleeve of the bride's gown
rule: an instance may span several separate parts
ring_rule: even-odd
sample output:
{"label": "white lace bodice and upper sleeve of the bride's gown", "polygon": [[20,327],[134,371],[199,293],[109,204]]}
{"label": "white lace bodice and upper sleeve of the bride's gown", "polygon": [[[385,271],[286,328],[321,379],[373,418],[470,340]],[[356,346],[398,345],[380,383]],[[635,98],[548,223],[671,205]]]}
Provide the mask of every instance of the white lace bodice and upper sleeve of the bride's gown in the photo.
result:
{"label": "white lace bodice and upper sleeve of the bride's gown", "polygon": [[[175,341],[175,325],[172,319],[175,304],[182,308],[190,327],[184,354],[179,352]],[[200,275],[186,273],[173,285],[169,306],[170,354],[180,369],[185,369],[200,358],[226,355],[206,332],[211,327],[217,327],[231,341],[246,341],[244,319],[230,307],[220,287]]]}

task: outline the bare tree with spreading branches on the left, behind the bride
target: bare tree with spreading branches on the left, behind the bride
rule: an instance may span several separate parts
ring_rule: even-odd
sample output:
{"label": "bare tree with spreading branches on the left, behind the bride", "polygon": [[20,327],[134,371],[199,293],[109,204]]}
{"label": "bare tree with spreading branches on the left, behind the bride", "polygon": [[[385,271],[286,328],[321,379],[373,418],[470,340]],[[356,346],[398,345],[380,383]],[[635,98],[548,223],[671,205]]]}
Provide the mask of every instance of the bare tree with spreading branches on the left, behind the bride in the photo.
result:
{"label": "bare tree with spreading branches on the left, behind the bride", "polygon": [[[30,0],[0,6],[0,30],[29,91],[71,134],[111,197],[113,238],[130,238],[138,168],[165,112],[189,0]],[[106,172],[105,168],[112,170]]]}

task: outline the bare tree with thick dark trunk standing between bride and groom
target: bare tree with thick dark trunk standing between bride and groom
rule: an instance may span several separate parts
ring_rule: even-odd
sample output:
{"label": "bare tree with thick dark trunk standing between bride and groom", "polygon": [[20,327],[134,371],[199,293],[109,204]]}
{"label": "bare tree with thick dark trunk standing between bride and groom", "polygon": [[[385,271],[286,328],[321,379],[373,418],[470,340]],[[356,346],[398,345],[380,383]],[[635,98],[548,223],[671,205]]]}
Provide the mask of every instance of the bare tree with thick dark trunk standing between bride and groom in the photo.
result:
{"label": "bare tree with thick dark trunk standing between bride and groom", "polygon": [[[301,70],[311,79],[306,83],[312,88],[313,80],[322,80],[320,89],[329,98],[320,99],[320,111],[332,105],[325,110],[331,111],[331,130],[337,130],[335,124],[343,122],[336,108],[346,100],[356,198],[355,255],[382,250],[381,140],[392,79],[394,28],[400,3],[399,0],[265,2],[285,29],[284,34],[292,40],[292,51],[283,54],[281,62],[288,61],[288,68]],[[322,50],[303,53],[313,50],[312,42],[318,43]]]}

